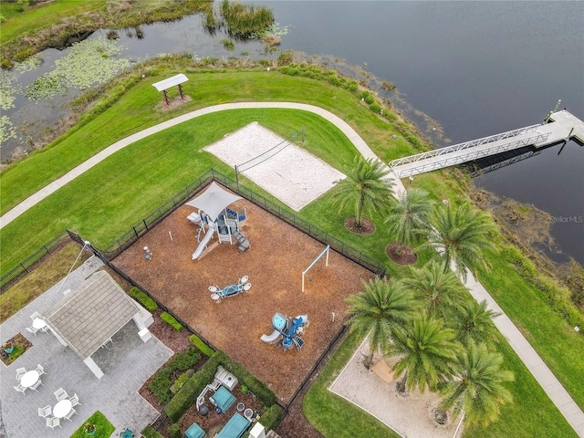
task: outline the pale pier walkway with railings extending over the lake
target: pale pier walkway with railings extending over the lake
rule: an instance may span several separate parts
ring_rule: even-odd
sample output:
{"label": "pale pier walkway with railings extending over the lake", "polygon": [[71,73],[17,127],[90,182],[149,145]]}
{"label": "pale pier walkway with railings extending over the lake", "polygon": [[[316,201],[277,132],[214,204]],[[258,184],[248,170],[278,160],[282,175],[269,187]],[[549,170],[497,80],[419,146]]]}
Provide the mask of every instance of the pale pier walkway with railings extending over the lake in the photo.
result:
{"label": "pale pier walkway with railings extending over the lake", "polygon": [[548,123],[400,158],[390,162],[390,167],[397,178],[405,178],[526,146],[542,149],[571,138],[584,143],[584,121],[561,110],[550,114]]}

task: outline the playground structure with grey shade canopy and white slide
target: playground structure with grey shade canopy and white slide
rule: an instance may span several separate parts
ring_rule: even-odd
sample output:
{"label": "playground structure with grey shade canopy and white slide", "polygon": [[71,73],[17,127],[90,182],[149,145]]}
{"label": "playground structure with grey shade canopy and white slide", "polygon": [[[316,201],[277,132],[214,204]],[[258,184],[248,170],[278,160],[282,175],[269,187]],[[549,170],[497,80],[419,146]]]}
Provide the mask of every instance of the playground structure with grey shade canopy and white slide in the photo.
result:
{"label": "playground structure with grey shade canopy and white slide", "polygon": [[[235,212],[228,208],[228,205],[240,199],[240,196],[225,191],[216,183],[211,183],[203,194],[186,203],[198,208],[198,213],[193,212],[187,216],[191,223],[199,226],[197,232],[199,245],[193,252],[193,260],[203,255],[204,249],[215,234],[218,235],[220,244],[222,242],[229,242],[230,245],[237,243],[241,252],[247,251],[249,241],[241,232],[247,219],[247,212],[245,209]],[[202,235],[204,235],[203,238]]]}

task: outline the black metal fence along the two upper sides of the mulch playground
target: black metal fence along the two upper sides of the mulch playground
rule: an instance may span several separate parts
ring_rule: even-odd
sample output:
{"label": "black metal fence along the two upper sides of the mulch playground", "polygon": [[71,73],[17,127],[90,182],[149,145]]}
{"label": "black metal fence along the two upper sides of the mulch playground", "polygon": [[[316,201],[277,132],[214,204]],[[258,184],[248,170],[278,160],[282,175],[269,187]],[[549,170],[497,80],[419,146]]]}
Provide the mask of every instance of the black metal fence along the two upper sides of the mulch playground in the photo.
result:
{"label": "black metal fence along the two upper sides of the mulch playground", "polygon": [[203,173],[203,175],[194,180],[193,183],[187,185],[181,192],[176,193],[171,199],[162,203],[160,207],[154,210],[146,218],[142,219],[140,223],[132,226],[124,235],[121,235],[120,238],[116,239],[116,241],[105,250],[105,253],[110,259],[115,258],[122,251],[136,242],[142,235],[148,233],[153,226],[159,224],[162,219],[183,205],[184,202],[192,198],[196,193],[201,192],[206,185],[214,181],[221,183],[224,187],[239,194],[247,201],[255,203],[267,212],[276,215],[276,217],[282,221],[294,226],[303,233],[310,235],[323,245],[330,245],[331,249],[334,251],[337,251],[353,262],[358,263],[360,266],[369,269],[378,276],[384,275],[385,266],[381,264],[381,262],[375,260],[369,255],[363,254],[359,249],[347,245],[334,235],[329,234],[318,228],[318,226],[310,224],[296,214],[291,213],[287,208],[268,200],[266,196],[255,193],[253,190],[240,183],[236,183],[228,176],[221,172],[217,172],[214,169]]}

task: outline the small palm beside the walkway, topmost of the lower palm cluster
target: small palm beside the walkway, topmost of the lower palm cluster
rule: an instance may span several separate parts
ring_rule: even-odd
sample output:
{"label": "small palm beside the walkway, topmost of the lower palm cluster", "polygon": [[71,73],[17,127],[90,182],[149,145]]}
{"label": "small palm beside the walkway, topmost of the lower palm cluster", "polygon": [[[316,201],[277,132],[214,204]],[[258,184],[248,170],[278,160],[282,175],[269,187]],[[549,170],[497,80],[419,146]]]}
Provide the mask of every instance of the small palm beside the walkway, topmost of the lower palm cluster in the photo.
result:
{"label": "small palm beside the walkway, topmost of the lower palm cluster", "polygon": [[451,319],[457,308],[462,308],[466,288],[451,270],[431,260],[422,268],[412,269],[412,276],[402,280],[416,297],[422,299],[425,311],[433,318]]}

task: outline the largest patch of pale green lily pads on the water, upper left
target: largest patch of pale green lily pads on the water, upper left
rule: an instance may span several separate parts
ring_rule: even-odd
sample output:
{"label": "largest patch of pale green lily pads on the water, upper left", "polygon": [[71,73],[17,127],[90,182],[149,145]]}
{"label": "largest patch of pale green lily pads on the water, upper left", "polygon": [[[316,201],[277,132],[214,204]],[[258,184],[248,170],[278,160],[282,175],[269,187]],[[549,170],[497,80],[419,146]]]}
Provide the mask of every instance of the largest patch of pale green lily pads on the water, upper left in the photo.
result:
{"label": "largest patch of pale green lily pads on the water, upper left", "polygon": [[55,61],[55,69],[26,87],[31,100],[51,99],[70,88],[87,89],[114,78],[130,59],[118,58],[123,47],[115,40],[99,36],[74,44],[66,57]]}

